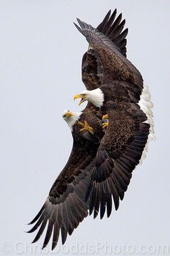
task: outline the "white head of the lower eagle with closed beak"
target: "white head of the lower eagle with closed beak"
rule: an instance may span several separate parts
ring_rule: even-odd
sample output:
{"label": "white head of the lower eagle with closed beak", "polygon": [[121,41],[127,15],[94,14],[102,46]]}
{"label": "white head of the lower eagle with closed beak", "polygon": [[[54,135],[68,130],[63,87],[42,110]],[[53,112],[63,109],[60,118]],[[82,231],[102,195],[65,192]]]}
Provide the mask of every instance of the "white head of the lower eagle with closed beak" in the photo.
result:
{"label": "white head of the lower eagle with closed beak", "polygon": [[67,122],[68,127],[70,127],[71,132],[73,131],[73,125],[76,124],[76,121],[80,119],[82,112],[71,112],[69,110],[63,111],[63,119]]}

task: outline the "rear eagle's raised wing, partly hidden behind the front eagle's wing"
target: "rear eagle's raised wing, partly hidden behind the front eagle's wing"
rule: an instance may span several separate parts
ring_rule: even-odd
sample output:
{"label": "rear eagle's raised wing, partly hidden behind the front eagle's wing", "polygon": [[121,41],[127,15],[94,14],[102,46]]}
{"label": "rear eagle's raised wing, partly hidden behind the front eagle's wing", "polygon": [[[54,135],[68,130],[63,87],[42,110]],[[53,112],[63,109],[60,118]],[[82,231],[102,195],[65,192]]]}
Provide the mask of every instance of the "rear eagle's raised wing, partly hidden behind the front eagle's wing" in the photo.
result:
{"label": "rear eagle's raised wing, partly hidden behind the front eagle's wing", "polygon": [[[102,23],[97,27],[97,30],[115,43],[115,45],[120,49],[121,54],[126,57],[127,40],[125,38],[128,34],[128,28],[123,30],[125,20],[122,20],[122,14],[119,14],[117,19],[115,19],[116,14],[117,9],[115,9],[112,15],[111,10],[109,10]],[[90,47],[83,56],[81,70],[82,80],[86,89],[94,90],[99,88],[99,85],[102,82],[102,64],[99,61],[97,52],[93,51]]]}

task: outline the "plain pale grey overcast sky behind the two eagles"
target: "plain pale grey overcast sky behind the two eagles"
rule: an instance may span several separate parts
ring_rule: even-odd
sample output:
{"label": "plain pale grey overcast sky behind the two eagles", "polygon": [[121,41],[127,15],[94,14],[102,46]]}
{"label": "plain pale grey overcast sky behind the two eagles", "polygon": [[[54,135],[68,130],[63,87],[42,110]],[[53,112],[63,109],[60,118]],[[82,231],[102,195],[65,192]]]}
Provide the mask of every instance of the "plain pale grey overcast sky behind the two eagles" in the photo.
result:
{"label": "plain pale grey overcast sky behind the two eagles", "polygon": [[[73,95],[84,89],[81,58],[87,48],[73,21],[79,17],[97,26],[115,7],[129,27],[128,59],[150,87],[156,141],[135,169],[119,210],[102,221],[86,218],[66,241],[66,250],[77,243],[78,249],[65,253],[60,240],[58,255],[90,255],[86,242],[94,255],[109,255],[104,244],[95,249],[97,243],[117,246],[117,252],[123,244],[132,246],[134,255],[143,255],[143,245],[170,247],[170,1],[4,0],[0,6],[1,255],[50,255],[51,244],[40,251],[44,236],[30,244],[36,233],[24,231],[71,152],[71,132],[61,114],[81,109]],[[130,249],[119,255],[130,255]]]}

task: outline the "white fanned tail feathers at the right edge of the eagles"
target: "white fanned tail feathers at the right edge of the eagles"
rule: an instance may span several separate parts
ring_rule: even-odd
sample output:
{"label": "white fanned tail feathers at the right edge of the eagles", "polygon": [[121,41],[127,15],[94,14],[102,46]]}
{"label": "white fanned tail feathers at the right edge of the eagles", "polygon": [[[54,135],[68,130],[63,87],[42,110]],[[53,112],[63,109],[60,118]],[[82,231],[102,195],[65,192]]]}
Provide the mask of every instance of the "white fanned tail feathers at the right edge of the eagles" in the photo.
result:
{"label": "white fanned tail feathers at the right edge of the eagles", "polygon": [[144,85],[142,95],[140,96],[139,106],[146,113],[148,119],[145,121],[150,124],[148,141],[146,143],[146,147],[143,150],[143,155],[140,159],[139,164],[142,163],[143,159],[146,158],[146,153],[148,152],[148,142],[149,140],[155,140],[155,132],[154,132],[154,122],[153,122],[153,112],[151,108],[153,108],[153,103],[151,101],[151,93],[149,93],[148,85]]}

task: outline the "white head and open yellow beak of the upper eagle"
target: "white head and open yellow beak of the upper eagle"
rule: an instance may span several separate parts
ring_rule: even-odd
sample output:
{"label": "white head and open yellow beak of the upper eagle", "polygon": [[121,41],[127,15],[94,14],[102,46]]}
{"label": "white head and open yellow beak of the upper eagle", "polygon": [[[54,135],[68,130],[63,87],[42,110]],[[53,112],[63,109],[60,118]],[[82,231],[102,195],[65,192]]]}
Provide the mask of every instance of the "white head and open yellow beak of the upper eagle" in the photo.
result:
{"label": "white head and open yellow beak of the upper eagle", "polygon": [[99,88],[94,90],[84,90],[81,93],[76,94],[73,99],[76,100],[76,98],[81,98],[79,105],[81,105],[81,103],[84,101],[89,101],[93,103],[94,106],[100,108],[104,102],[104,93]]}

